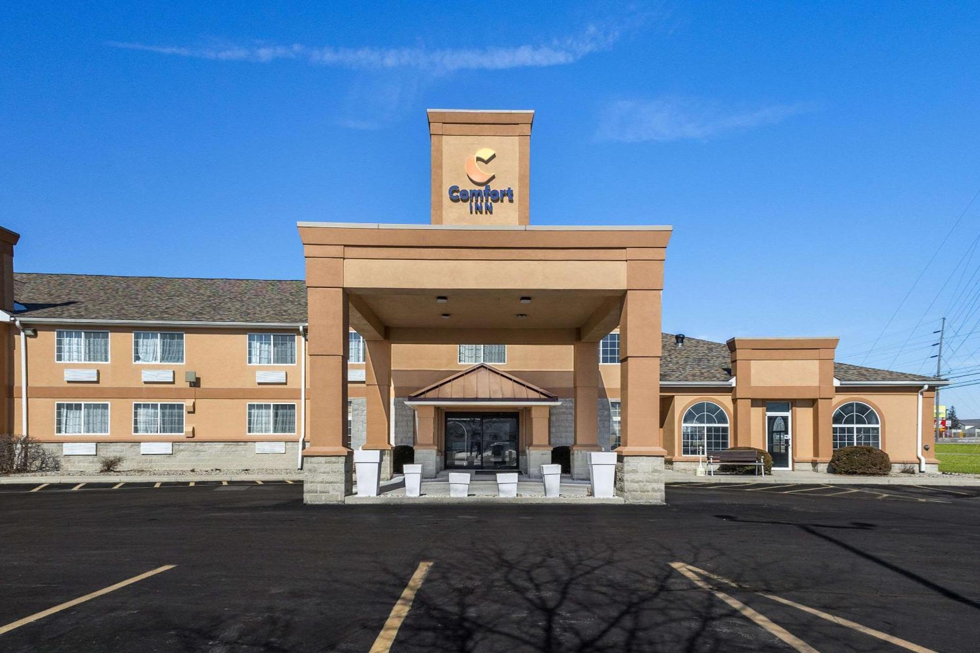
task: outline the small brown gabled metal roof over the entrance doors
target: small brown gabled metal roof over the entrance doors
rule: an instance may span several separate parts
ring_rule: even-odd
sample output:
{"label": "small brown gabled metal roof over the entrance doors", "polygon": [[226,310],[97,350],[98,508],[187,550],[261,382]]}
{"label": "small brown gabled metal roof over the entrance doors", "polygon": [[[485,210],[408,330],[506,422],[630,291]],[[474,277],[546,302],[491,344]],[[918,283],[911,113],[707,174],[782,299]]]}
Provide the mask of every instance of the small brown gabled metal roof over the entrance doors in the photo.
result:
{"label": "small brown gabled metal roof over the entrance doors", "polygon": [[480,363],[409,395],[409,402],[556,402],[558,396],[497,368]]}

